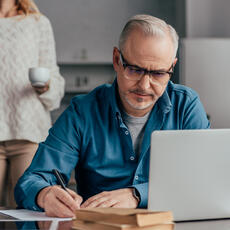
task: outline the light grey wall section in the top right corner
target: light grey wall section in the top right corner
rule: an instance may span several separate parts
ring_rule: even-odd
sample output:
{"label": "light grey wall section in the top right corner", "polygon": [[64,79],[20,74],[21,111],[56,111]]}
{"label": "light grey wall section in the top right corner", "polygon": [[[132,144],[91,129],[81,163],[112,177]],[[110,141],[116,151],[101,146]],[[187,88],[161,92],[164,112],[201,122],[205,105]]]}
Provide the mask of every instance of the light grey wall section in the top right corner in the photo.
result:
{"label": "light grey wall section in the top right corner", "polygon": [[187,37],[230,37],[229,0],[186,0]]}

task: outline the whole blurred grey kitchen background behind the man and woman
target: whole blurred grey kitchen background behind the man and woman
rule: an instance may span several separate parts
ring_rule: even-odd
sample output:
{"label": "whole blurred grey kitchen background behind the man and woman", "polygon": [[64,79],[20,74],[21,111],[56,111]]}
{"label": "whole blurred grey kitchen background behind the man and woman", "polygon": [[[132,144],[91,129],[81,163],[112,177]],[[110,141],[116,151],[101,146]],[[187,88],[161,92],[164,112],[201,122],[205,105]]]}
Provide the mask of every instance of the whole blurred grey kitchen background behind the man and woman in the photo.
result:
{"label": "whole blurred grey kitchen background behind the man and woman", "polygon": [[51,21],[57,61],[66,80],[61,107],[115,74],[112,50],[127,19],[151,14],[166,20],[180,36],[179,62],[172,80],[195,89],[212,128],[230,128],[229,0],[35,0]]}

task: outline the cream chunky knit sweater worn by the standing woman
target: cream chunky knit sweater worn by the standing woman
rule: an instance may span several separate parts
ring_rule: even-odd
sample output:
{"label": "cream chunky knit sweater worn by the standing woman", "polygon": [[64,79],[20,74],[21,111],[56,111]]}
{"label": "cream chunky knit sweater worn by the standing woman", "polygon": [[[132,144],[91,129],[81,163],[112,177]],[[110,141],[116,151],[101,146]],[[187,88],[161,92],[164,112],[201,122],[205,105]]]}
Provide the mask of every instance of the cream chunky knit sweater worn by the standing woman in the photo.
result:
{"label": "cream chunky knit sweater worn by the standing woman", "polygon": [[[51,73],[50,88],[41,95],[28,79],[28,69],[37,66]],[[49,20],[43,15],[0,18],[0,141],[44,141],[49,111],[59,107],[64,84]]]}

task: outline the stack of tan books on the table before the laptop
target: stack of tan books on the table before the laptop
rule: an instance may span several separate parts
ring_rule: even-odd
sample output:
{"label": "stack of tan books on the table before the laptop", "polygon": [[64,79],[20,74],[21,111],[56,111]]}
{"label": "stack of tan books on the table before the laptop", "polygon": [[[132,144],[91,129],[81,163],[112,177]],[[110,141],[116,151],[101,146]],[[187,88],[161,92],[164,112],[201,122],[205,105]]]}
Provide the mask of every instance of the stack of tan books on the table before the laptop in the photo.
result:
{"label": "stack of tan books on the table before the laptop", "polygon": [[173,230],[172,212],[147,209],[85,208],[76,211],[72,229],[78,230]]}

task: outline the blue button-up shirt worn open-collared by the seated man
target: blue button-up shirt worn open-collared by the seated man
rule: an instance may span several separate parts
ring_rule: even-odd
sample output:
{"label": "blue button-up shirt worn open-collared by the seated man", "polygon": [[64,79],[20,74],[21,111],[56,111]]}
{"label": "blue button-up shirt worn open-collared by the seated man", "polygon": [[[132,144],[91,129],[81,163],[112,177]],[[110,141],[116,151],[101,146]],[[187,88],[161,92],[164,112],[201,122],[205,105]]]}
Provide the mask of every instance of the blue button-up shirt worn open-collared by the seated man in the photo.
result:
{"label": "blue button-up shirt worn open-collared by the seated man", "polygon": [[77,191],[84,200],[102,191],[135,187],[141,197],[139,207],[146,208],[151,133],[210,126],[198,95],[169,82],[150,113],[137,157],[118,98],[115,80],[112,85],[102,85],[72,99],[17,183],[19,207],[40,210],[36,204],[38,192],[57,184],[52,169],[58,169],[67,183],[75,168]]}

